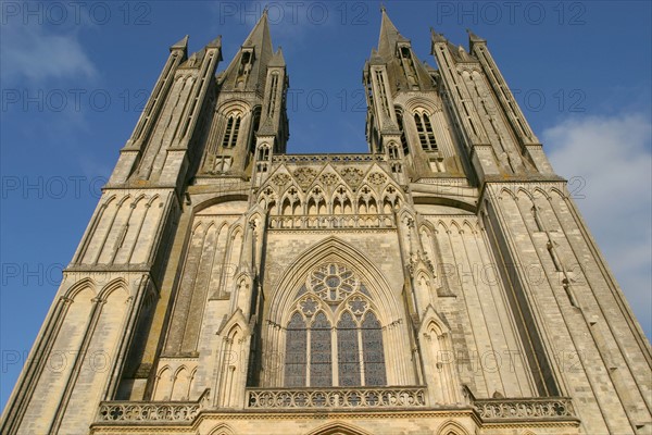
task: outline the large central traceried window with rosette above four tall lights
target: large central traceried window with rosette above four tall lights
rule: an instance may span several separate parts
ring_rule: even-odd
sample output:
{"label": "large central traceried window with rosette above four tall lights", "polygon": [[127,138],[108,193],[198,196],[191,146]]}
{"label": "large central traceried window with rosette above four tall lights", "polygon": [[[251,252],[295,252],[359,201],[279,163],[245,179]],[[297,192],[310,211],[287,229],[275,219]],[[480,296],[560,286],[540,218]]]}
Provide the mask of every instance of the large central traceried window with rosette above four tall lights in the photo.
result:
{"label": "large central traceried window with rosette above four tall lights", "polygon": [[286,387],[387,384],[383,330],[364,284],[343,264],[310,273],[286,326]]}

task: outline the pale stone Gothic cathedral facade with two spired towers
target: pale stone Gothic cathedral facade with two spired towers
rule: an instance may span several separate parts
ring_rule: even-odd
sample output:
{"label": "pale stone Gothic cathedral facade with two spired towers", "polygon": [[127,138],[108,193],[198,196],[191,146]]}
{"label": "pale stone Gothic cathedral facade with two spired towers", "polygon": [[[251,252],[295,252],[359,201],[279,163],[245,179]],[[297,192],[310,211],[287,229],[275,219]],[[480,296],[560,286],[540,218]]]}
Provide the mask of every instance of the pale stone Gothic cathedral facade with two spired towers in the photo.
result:
{"label": "pale stone Gothic cathedral facade with two spired towers", "polygon": [[0,432],[651,434],[650,344],[468,36],[434,69],[381,12],[361,154],[286,152],[266,13],[220,73],[172,46]]}

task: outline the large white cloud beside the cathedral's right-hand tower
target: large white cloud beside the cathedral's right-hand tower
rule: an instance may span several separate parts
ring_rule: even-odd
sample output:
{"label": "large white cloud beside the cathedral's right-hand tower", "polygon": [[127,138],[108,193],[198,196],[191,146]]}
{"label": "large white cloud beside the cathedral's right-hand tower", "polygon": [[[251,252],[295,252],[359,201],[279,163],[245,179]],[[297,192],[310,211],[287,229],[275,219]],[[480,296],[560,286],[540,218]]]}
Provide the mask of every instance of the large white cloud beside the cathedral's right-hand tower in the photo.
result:
{"label": "large white cloud beside the cathedral's right-hand tower", "polygon": [[641,326],[652,335],[652,125],[640,113],[570,119],[542,135]]}

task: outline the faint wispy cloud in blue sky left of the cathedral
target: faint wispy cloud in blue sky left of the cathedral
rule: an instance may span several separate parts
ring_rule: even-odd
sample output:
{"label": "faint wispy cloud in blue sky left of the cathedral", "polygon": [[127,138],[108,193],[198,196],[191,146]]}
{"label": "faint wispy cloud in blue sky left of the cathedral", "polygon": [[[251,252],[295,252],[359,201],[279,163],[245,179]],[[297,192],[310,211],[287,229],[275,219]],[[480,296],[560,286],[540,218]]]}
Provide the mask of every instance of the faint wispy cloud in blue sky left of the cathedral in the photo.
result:
{"label": "faint wispy cloud in blue sky left of the cathedral", "polygon": [[93,77],[97,70],[74,33],[57,35],[42,25],[12,23],[2,28],[2,78]]}

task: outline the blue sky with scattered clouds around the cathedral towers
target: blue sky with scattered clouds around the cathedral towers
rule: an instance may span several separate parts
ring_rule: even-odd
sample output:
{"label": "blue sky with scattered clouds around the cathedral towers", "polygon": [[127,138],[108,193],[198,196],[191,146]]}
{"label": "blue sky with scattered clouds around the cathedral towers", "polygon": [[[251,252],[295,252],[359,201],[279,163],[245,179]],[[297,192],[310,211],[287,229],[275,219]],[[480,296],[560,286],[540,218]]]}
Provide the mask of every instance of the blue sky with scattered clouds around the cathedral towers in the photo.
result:
{"label": "blue sky with scattered clouds around the cathedral towers", "polygon": [[[1,10],[0,406],[167,48],[223,35],[226,67],[265,3],[14,2]],[[486,38],[648,337],[652,335],[651,2],[386,1],[422,61],[429,28]],[[376,2],[269,2],[290,76],[289,152],[365,152]]]}

